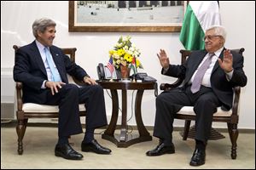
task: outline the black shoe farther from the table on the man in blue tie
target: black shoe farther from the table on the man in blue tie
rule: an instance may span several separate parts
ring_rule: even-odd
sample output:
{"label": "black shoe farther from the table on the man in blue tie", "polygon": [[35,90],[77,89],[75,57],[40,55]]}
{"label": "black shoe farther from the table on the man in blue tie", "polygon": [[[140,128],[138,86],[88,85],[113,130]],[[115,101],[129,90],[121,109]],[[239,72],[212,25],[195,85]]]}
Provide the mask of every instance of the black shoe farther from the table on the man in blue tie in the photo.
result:
{"label": "black shoe farther from the table on the man in blue tie", "polygon": [[76,150],[73,150],[73,148],[69,144],[56,144],[55,156],[61,156],[68,160],[81,160],[84,157]]}

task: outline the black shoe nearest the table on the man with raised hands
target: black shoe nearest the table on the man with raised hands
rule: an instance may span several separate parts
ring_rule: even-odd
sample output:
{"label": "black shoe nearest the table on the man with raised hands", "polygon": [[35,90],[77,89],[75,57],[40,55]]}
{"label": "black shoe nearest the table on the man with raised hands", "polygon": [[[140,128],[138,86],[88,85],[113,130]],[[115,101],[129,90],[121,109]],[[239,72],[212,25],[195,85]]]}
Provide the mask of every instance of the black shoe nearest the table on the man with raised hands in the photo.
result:
{"label": "black shoe nearest the table on the man with raised hands", "polygon": [[172,144],[171,146],[166,146],[163,142],[160,142],[160,144],[158,144],[156,148],[154,148],[154,150],[148,150],[146,155],[161,156],[164,154],[173,154],[173,153],[175,153],[174,144]]}

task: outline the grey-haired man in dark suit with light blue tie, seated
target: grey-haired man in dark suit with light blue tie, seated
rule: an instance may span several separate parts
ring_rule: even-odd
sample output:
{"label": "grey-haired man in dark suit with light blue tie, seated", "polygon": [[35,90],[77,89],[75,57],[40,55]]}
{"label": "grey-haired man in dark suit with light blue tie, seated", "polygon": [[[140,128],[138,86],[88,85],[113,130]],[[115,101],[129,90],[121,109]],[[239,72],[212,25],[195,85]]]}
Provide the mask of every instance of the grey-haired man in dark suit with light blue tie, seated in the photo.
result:
{"label": "grey-haired man in dark suit with light blue tie, seated", "polygon": [[[83,133],[79,118],[79,103],[86,106],[86,131],[82,151],[109,154],[111,150],[98,144],[94,139],[96,127],[108,124],[103,89],[79,65],[72,63],[53,45],[55,21],[35,20],[32,31],[36,40],[18,49],[15,54],[14,79],[23,82],[23,101],[42,105],[59,105],[58,143],[55,156],[70,160],[81,160],[83,155],[68,144],[68,137]],[[84,81],[78,87],[69,84],[67,73]]]}

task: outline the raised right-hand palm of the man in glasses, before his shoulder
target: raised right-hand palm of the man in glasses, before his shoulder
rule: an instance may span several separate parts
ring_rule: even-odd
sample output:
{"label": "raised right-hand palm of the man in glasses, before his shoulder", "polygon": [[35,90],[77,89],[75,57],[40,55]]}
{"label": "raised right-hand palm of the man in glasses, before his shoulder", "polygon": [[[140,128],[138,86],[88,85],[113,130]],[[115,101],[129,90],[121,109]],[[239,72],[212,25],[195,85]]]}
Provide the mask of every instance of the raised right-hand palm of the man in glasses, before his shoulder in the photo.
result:
{"label": "raised right-hand palm of the man in glasses, before his shoulder", "polygon": [[229,49],[224,51],[223,60],[218,59],[218,65],[227,73],[233,71],[233,55],[230,53]]}

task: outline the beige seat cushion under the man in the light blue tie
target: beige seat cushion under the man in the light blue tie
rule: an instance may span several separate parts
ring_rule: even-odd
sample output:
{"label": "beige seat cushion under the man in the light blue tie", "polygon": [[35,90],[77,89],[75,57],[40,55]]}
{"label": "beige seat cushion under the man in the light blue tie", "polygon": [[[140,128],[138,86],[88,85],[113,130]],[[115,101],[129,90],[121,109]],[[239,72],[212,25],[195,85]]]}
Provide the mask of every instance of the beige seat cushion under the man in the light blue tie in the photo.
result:
{"label": "beige seat cushion under the man in the light blue tie", "polygon": [[[23,104],[24,112],[59,112],[58,105],[38,105],[34,103]],[[86,111],[84,104],[79,104],[79,111]]]}

